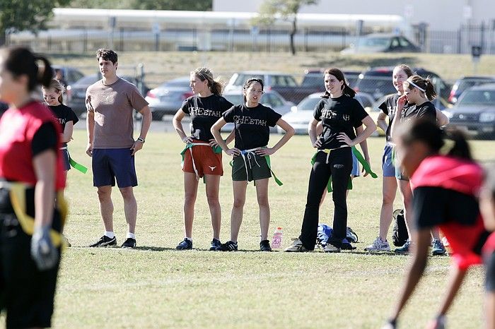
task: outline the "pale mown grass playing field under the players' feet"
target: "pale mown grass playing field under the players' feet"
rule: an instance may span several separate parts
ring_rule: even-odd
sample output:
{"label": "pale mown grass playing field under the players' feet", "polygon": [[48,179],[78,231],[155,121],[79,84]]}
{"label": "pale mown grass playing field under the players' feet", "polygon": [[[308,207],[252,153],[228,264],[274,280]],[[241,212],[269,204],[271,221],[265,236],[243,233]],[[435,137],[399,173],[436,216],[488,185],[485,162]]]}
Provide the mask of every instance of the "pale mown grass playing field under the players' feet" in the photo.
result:
{"label": "pale mown grass playing field under the players' feet", "polygon": [[[272,135],[271,145],[279,138]],[[63,256],[59,273],[56,328],[379,328],[390,313],[402,284],[408,256],[370,255],[363,248],[378,234],[380,179],[359,178],[349,195],[349,225],[359,234],[354,252],[337,255],[258,252],[259,222],[255,189],[248,187],[239,246],[242,251],[206,251],[211,241],[204,186],[194,222],[193,251],[175,251],[183,239],[182,143],[170,133],[151,133],[136,156],[139,214],[134,250],[89,249],[103,225],[91,171],[71,170],[66,196],[71,214],[66,235],[73,247]],[[372,167],[380,172],[383,138],[369,140]],[[495,143],[475,141],[480,160],[495,158]],[[86,136],[76,131],[71,155],[89,165]],[[295,136],[272,157],[284,186],[270,183],[272,225],[284,229],[284,246],[301,229],[307,192],[307,136]],[[232,205],[231,170],[221,179],[223,225],[229,237]],[[126,233],[122,198],[114,191],[117,243]],[[397,198],[398,201],[398,198]],[[397,207],[400,203],[397,202]],[[325,201],[321,222],[331,225],[332,203]],[[450,259],[431,257],[416,294],[405,309],[400,328],[424,328],[441,301]],[[453,309],[449,328],[482,325],[482,268],[468,275]]]}

